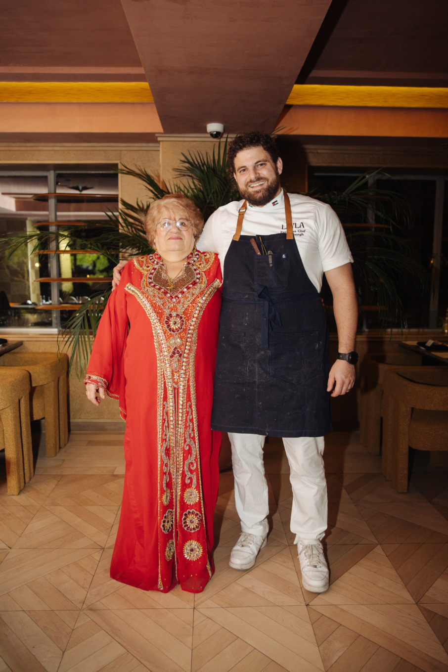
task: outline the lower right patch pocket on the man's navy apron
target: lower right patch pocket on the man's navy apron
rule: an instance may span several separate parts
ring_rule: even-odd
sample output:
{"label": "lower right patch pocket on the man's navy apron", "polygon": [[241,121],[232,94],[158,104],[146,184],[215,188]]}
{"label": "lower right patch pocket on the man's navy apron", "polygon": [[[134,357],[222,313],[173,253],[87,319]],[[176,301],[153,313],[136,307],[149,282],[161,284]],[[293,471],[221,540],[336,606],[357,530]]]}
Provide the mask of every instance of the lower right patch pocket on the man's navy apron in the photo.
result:
{"label": "lower right patch pocket on the man's navy apron", "polygon": [[293,384],[314,378],[322,369],[322,343],[318,331],[272,331],[269,374]]}

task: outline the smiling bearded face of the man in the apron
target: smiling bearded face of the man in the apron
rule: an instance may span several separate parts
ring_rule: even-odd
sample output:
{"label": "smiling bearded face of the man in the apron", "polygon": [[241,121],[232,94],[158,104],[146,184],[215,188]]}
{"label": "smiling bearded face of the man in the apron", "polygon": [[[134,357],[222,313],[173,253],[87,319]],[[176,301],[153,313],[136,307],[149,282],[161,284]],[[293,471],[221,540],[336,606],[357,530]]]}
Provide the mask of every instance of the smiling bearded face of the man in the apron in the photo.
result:
{"label": "smiling bearded face of the man in the apron", "polygon": [[280,193],[281,159],[274,163],[262,146],[238,152],[233,173],[241,197],[253,206],[265,206]]}

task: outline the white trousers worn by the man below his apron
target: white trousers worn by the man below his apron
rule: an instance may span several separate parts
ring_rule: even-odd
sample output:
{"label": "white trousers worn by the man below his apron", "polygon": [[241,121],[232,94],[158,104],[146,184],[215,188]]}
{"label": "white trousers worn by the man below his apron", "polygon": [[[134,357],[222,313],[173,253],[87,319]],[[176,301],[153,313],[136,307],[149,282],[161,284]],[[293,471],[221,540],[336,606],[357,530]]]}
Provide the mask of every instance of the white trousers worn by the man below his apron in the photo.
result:
{"label": "white trousers worn by the man below his apron", "polygon": [[[242,532],[266,536],[267,482],[263,464],[265,437],[260,434],[229,433],[235,479],[236,511]],[[283,439],[292,485],[291,532],[298,540],[312,544],[321,540],[327,526],[328,500],[324,472],[324,437]]]}

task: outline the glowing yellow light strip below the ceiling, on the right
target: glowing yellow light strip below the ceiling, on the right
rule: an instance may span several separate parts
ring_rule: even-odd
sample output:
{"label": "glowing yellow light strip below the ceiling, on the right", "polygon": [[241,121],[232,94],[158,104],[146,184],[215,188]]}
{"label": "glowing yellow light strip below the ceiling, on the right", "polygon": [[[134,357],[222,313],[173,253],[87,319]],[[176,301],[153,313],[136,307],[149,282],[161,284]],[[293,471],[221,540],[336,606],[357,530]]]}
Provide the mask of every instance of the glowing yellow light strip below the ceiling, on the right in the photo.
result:
{"label": "glowing yellow light strip below the ceiling, on the right", "polygon": [[448,108],[448,89],[296,84],[286,104],[362,108]]}

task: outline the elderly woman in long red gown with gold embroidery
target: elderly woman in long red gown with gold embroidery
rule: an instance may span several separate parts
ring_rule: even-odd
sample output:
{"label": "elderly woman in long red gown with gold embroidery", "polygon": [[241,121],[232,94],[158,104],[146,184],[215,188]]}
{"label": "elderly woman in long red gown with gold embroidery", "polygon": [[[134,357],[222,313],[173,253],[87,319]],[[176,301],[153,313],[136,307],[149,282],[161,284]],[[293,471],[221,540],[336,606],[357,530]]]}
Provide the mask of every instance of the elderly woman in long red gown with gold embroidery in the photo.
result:
{"label": "elderly woman in long red gown with gold embroidery", "polygon": [[221,276],[195,249],[204,219],[185,196],[151,204],[154,254],[122,273],[99,323],[87,396],[118,399],[126,474],[110,575],[166,593],[199,593],[214,573],[220,433],[210,428]]}

